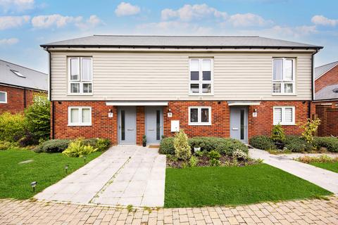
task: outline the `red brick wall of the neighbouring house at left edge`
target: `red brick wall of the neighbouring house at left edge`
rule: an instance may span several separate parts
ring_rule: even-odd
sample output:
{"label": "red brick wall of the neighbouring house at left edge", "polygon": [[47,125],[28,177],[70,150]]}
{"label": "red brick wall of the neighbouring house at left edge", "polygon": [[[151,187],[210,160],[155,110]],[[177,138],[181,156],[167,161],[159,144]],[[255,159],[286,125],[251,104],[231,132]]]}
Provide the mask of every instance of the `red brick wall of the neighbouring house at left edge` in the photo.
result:
{"label": "red brick wall of the neighbouring house at left edge", "polygon": [[6,91],[7,103],[0,103],[0,114],[4,112],[20,113],[32,104],[33,96],[41,91],[32,91],[13,86],[0,85],[0,91]]}

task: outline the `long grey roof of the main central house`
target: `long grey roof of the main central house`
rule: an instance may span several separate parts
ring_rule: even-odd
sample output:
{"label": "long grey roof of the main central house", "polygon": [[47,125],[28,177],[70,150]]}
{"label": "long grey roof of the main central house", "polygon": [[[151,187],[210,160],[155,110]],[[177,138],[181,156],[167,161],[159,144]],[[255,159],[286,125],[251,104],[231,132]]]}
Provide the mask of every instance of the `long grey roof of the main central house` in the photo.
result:
{"label": "long grey roof of the main central house", "polygon": [[132,36],[94,35],[42,44],[42,47],[205,47],[205,48],[294,48],[322,49],[322,46],[258,36]]}

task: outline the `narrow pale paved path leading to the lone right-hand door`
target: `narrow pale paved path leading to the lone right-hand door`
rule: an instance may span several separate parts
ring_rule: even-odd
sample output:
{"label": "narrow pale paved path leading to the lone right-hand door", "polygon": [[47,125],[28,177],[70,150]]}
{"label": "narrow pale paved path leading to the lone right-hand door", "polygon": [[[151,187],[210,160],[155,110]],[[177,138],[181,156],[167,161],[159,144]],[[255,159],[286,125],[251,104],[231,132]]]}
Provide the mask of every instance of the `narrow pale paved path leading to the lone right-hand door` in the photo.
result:
{"label": "narrow pale paved path leading to the lone right-hand door", "polygon": [[303,162],[297,162],[289,156],[272,155],[265,150],[250,149],[249,155],[251,158],[260,158],[268,165],[299,176],[301,179],[310,181],[332,193],[338,193],[338,173],[314,167]]}

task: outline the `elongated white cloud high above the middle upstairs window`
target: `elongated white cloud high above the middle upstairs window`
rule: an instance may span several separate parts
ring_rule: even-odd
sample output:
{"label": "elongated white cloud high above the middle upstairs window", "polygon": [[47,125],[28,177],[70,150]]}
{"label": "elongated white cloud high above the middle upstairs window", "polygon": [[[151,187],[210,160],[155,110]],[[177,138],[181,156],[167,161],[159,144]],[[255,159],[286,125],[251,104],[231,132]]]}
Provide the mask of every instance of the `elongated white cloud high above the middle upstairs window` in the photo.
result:
{"label": "elongated white cloud high above the middle upstairs window", "polygon": [[170,20],[172,18],[179,18],[183,21],[191,21],[194,19],[201,19],[207,17],[227,18],[227,13],[218,11],[217,9],[208,6],[207,4],[186,4],[182,8],[174,11],[171,8],[165,8],[161,11],[162,20]]}

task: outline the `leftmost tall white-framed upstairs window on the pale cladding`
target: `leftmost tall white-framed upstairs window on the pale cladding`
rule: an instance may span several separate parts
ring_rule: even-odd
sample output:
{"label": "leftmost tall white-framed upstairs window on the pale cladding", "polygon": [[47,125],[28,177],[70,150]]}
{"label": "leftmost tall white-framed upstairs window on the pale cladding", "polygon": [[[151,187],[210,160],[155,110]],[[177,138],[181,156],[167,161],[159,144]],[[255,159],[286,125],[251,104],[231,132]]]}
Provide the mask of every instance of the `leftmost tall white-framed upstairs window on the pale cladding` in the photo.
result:
{"label": "leftmost tall white-framed upstairs window on the pale cladding", "polygon": [[68,58],[69,94],[93,93],[93,60],[90,57]]}

